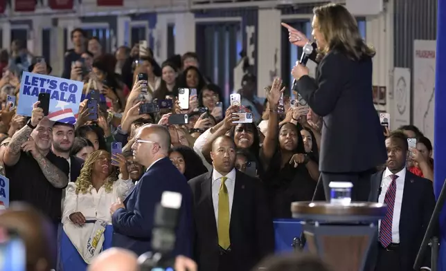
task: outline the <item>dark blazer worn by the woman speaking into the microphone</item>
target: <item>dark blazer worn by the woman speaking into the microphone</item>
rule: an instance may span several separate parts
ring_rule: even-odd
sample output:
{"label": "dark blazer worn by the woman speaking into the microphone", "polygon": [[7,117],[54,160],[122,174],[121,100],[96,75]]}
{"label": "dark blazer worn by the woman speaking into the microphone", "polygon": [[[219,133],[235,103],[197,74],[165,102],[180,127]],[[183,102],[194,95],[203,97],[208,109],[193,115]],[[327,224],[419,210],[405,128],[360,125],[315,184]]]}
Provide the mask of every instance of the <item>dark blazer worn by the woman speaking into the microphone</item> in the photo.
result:
{"label": "dark blazer worn by the woman speaking into the microphone", "polygon": [[323,117],[319,170],[360,172],[386,159],[384,134],[372,95],[372,59],[353,61],[332,51],[316,69],[316,79],[305,75],[296,90]]}

